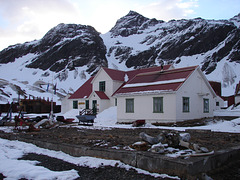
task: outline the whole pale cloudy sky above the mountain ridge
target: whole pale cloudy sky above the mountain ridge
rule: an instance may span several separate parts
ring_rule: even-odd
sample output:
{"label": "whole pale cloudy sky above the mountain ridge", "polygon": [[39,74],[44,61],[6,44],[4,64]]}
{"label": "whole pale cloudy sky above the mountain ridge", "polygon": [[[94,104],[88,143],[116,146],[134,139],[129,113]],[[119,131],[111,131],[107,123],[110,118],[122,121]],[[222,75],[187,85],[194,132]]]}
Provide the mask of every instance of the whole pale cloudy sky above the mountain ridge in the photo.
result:
{"label": "whole pale cloudy sky above the mountain ridge", "polygon": [[240,0],[0,0],[0,50],[40,39],[59,23],[106,33],[130,10],[164,21],[230,19],[240,13]]}

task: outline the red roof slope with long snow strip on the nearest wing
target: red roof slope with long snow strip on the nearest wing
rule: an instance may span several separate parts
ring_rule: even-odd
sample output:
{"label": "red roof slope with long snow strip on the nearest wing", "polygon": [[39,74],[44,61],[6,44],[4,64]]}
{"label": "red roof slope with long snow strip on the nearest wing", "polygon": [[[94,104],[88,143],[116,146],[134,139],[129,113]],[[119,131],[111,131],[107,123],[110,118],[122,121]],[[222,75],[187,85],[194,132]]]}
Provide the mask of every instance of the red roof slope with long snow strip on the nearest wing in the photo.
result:
{"label": "red roof slope with long snow strip on the nearest wing", "polygon": [[115,94],[143,91],[176,91],[198,66],[141,73]]}

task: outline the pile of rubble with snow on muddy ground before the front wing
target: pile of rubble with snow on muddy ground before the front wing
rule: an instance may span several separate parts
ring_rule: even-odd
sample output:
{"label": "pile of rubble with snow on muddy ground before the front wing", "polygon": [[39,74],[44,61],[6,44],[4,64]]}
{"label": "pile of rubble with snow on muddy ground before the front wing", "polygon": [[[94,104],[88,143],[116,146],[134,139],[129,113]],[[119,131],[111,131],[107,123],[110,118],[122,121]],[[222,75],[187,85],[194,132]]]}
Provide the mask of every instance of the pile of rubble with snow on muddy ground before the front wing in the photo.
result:
{"label": "pile of rubble with snow on muddy ground before the front wing", "polygon": [[177,131],[161,132],[156,137],[150,136],[145,132],[139,134],[141,141],[130,145],[137,151],[149,151],[165,154],[170,157],[203,156],[213,154],[206,147],[190,142],[189,133],[179,133]]}

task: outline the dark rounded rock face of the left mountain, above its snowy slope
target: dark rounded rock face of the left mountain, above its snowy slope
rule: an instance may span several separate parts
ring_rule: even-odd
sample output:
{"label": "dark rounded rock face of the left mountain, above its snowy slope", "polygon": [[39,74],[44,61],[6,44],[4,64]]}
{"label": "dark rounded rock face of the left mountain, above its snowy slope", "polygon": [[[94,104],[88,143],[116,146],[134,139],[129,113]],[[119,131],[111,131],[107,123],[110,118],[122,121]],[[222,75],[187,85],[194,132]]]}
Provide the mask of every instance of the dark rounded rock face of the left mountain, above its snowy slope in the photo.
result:
{"label": "dark rounded rock face of the left mountain, above its snowy slope", "polygon": [[26,62],[27,68],[59,72],[64,69],[88,66],[93,72],[107,66],[106,47],[99,33],[91,26],[59,24],[39,41],[10,46],[0,52],[0,63],[14,62],[26,54],[36,54]]}

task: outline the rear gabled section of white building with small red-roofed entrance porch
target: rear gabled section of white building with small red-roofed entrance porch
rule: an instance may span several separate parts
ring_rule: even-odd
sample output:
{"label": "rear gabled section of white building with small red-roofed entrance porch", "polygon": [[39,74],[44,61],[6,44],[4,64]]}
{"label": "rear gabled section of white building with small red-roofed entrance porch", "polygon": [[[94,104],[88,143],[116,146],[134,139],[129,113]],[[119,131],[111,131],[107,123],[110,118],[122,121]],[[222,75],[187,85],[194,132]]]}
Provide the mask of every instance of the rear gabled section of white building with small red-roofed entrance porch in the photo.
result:
{"label": "rear gabled section of white building with small red-roofed entrance porch", "polygon": [[120,71],[102,67],[95,76],[88,79],[74,94],[62,101],[62,113],[71,109],[95,109],[97,112],[115,106],[117,99],[113,94],[139,73],[160,71],[172,68],[172,65],[151,67],[132,71]]}

